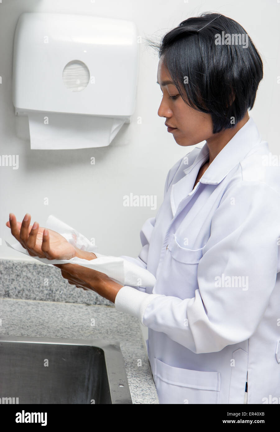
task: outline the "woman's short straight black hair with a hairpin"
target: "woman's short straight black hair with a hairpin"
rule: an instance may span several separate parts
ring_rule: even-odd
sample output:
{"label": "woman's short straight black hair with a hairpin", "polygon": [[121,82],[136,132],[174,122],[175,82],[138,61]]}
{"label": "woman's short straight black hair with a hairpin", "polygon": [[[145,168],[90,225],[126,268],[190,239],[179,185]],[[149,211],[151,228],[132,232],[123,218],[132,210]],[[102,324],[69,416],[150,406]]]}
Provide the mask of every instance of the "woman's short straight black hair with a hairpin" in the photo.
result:
{"label": "woman's short straight black hair with a hairpin", "polygon": [[[238,43],[219,44],[217,35],[227,34]],[[243,48],[241,38],[236,39],[238,35],[244,35],[247,47]],[[147,41],[159,51],[159,58],[163,56],[183,100],[192,108],[211,114],[213,133],[234,127],[253,108],[263,78],[263,64],[238,22],[219,13],[202,13],[182,21],[160,43]]]}

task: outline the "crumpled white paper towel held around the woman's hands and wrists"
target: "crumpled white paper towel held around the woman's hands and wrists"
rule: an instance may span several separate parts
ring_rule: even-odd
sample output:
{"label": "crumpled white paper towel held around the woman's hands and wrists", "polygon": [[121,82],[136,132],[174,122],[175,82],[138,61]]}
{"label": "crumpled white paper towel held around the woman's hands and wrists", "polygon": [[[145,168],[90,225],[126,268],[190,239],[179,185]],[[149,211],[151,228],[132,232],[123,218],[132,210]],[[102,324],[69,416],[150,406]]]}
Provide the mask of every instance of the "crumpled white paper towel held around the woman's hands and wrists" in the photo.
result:
{"label": "crumpled white paper towel held around the woman's hands and wrists", "polygon": [[[83,234],[76,231],[66,223],[60,221],[53,215],[48,217],[45,228],[58,232],[60,235],[66,238],[71,245],[82,249],[83,251],[95,252],[97,250],[97,246],[92,245],[92,243]],[[6,241],[6,245],[15,249],[16,251],[30,256],[28,251],[23,248],[19,242],[14,245],[10,245],[10,243]],[[155,285],[155,276],[153,276],[152,273],[143,267],[137,266],[136,264],[124,260],[121,257],[112,257],[101,254],[98,255],[99,257],[90,261],[78,257],[71,258],[70,260],[48,260],[48,258],[39,257],[32,258],[48,265],[69,263],[79,264],[81,266],[105,273],[112,280],[121,283],[122,285],[143,287],[153,287]],[[141,284],[139,284],[139,281]]]}

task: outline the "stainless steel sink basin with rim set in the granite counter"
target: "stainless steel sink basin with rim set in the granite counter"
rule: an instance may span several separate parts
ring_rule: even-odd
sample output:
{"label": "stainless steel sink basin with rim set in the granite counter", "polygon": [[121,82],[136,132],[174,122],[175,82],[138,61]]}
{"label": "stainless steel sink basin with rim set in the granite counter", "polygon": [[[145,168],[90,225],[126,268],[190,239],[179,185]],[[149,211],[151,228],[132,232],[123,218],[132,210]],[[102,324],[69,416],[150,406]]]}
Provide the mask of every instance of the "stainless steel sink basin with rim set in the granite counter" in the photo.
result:
{"label": "stainless steel sink basin with rim set in the granite counter", "polygon": [[[0,336],[0,398],[132,403],[119,342]],[[16,399],[18,398],[18,399]]]}

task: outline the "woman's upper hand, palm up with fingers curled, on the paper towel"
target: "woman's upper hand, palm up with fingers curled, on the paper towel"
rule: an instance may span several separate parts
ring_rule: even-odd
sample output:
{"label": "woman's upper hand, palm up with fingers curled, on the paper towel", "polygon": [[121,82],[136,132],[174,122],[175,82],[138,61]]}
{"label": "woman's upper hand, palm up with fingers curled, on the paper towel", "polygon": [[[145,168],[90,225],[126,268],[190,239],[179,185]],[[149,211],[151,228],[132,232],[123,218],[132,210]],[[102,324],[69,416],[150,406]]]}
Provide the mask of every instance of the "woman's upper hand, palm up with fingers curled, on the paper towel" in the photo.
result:
{"label": "woman's upper hand, palm up with fingers curled, on the paper towel", "polygon": [[9,221],[6,222],[12,235],[27,249],[29,255],[48,260],[70,260],[77,256],[77,249],[58,232],[40,227],[37,222],[31,226],[30,221],[29,213],[26,213],[22,222],[17,222],[16,216],[10,213]]}

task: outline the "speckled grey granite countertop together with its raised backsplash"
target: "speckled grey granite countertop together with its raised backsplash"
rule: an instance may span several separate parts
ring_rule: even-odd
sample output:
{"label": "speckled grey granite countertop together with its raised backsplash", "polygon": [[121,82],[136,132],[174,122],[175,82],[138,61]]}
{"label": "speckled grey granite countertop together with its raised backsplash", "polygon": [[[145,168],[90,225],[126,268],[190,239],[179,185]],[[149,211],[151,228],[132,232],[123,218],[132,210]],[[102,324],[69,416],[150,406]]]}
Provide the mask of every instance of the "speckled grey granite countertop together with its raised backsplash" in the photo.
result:
{"label": "speckled grey granite countertop together with its raised backsplash", "polygon": [[0,335],[119,341],[132,402],[159,403],[136,318],[93,292],[69,286],[57,267],[0,260],[0,273]]}

